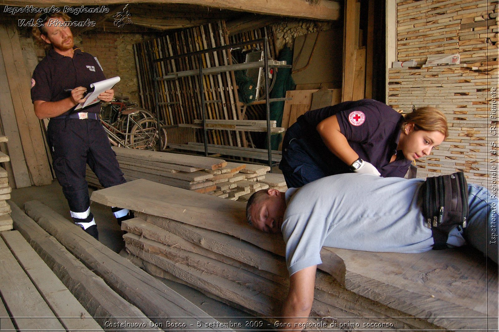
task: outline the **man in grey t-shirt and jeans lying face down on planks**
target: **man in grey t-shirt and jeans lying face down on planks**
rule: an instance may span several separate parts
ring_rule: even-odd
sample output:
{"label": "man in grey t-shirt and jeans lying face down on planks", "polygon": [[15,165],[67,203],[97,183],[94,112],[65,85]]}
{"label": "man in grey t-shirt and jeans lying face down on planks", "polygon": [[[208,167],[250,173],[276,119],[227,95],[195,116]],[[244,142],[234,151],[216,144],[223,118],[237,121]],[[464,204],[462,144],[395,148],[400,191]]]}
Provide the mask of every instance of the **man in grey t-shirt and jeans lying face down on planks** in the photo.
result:
{"label": "man in grey t-shirt and jeans lying face down on planks", "polygon": [[[295,323],[307,321],[313,302],[315,270],[322,263],[322,246],[398,253],[433,249],[437,241],[428,226],[432,227],[434,221],[429,223],[423,215],[425,182],[339,174],[298,189],[290,188],[285,193],[267,189],[250,197],[246,208],[248,222],[263,232],[282,233],[286,243],[290,280],[282,309],[282,327],[290,323],[294,329]],[[497,264],[497,195],[479,185],[465,182],[463,186],[468,189],[467,199],[463,194],[465,209],[468,202],[468,217],[464,224],[452,225],[443,245],[469,244],[487,253]]]}

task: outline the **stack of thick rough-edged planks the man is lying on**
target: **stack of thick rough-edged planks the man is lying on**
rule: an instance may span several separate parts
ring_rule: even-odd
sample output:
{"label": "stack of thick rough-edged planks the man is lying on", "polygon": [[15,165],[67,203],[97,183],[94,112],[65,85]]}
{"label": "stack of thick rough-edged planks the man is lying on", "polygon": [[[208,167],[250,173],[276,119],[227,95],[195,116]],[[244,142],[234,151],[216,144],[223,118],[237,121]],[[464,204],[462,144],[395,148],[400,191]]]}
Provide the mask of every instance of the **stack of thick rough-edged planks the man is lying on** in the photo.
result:
{"label": "stack of thick rough-edged planks the man is lying on", "polygon": [[[270,322],[279,316],[288,291],[284,243],[248,225],[244,203],[147,180],[94,191],[91,200],[136,211],[122,224],[126,249],[149,273]],[[497,285],[497,271],[487,275],[486,261],[470,254],[323,248],[309,329],[482,329],[498,309],[488,300],[497,298],[497,287],[487,291],[488,283]]]}

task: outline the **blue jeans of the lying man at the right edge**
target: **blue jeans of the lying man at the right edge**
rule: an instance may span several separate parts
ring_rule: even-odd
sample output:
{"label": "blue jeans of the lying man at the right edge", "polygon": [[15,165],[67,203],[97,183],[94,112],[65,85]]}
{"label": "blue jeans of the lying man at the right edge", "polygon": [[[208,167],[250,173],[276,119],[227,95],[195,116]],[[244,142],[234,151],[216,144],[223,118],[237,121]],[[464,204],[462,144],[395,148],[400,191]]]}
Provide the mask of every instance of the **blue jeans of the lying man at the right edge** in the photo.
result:
{"label": "blue jeans of the lying man at the right edge", "polygon": [[468,225],[463,237],[466,242],[498,263],[498,208],[497,195],[487,188],[468,184]]}

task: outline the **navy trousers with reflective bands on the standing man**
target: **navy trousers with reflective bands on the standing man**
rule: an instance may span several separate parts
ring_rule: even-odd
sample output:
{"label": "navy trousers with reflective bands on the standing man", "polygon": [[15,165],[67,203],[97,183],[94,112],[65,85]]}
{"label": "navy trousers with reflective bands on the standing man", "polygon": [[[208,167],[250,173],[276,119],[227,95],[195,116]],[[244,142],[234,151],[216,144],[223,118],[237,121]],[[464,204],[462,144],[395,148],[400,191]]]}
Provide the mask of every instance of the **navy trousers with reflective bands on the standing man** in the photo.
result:
{"label": "navy trousers with reflective bands on the standing man", "polygon": [[[125,183],[104,128],[94,119],[51,119],[47,127],[52,166],[73,221],[84,230],[95,225],[90,212],[86,164],[105,188]],[[127,209],[112,208],[118,221]]]}

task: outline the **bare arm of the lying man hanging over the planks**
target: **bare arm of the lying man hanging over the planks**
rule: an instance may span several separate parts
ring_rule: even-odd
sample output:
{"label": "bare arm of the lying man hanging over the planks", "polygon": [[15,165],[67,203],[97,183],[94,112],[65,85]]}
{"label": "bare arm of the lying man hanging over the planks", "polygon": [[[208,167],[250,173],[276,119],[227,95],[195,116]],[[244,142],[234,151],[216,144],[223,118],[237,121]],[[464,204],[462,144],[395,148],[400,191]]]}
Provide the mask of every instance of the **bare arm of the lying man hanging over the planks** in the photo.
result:
{"label": "bare arm of the lying man hanging over the planks", "polygon": [[279,329],[300,331],[305,326],[312,309],[316,269],[316,265],[310,266],[289,277],[289,293],[282,307]]}

